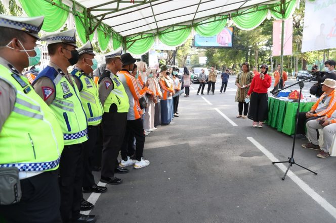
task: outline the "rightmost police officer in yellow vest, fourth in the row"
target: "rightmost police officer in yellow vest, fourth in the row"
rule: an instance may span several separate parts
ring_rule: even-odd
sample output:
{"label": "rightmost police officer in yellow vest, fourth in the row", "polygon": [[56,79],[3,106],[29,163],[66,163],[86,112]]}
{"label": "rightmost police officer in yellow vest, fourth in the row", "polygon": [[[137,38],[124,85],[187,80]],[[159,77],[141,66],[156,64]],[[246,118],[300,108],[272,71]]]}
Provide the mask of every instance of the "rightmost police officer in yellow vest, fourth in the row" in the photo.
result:
{"label": "rightmost police officer in yellow vest, fourth in the row", "polygon": [[105,55],[106,69],[98,80],[99,99],[104,107],[103,153],[101,182],[121,184],[114,173],[128,173],[129,169],[119,167],[117,157],[122,145],[129,111],[129,97],[117,76],[121,70],[121,50]]}

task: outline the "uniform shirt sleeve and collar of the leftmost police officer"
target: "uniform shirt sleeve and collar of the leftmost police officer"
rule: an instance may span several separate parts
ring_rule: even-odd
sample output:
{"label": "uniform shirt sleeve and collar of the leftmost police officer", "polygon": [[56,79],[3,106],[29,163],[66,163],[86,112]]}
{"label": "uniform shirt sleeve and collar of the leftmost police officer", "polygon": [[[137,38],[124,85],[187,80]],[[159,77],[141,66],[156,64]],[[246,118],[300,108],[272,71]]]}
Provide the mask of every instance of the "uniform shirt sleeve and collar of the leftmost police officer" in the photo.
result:
{"label": "uniform shirt sleeve and collar of the leftmost police officer", "polygon": [[[22,76],[20,72],[16,69],[15,71],[11,69],[8,65],[14,68],[8,61],[0,57],[0,64],[4,65],[9,70],[15,72],[16,74]],[[0,79],[0,132],[3,128],[4,123],[12,113],[14,109],[14,104],[16,100],[15,90],[11,85],[9,85],[4,80]]]}

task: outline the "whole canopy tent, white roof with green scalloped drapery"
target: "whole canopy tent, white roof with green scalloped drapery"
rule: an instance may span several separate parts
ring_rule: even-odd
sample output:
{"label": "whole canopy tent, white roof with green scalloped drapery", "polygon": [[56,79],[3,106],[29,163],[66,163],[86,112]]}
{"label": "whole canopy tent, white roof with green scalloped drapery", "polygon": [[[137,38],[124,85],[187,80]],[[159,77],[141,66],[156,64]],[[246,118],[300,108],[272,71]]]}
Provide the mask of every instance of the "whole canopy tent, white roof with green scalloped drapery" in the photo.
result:
{"label": "whole canopy tent, white roof with green scalloped drapery", "polygon": [[166,45],[178,46],[187,40],[192,30],[202,36],[213,36],[220,33],[228,22],[240,29],[251,30],[265,18],[286,19],[292,15],[299,0],[17,2],[28,16],[45,16],[42,29],[46,32],[55,32],[65,24],[74,23],[81,42],[92,40],[96,32],[102,51],[112,45],[114,49],[123,47],[133,54],[143,54],[152,47],[156,37]]}

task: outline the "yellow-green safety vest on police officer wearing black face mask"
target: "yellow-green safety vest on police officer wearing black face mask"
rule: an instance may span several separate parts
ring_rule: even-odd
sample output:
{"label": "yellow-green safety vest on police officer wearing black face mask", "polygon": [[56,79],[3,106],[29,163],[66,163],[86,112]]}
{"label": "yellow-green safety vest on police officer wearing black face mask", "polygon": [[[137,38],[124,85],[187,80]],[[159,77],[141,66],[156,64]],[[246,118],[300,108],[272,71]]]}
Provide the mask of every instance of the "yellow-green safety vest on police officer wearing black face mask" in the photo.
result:
{"label": "yellow-green safety vest on police officer wearing black face mask", "polygon": [[[72,78],[72,82],[75,81]],[[81,105],[80,95],[76,84],[57,74],[55,84],[55,99],[50,104],[63,131],[65,145],[73,145],[88,140],[87,117]]]}

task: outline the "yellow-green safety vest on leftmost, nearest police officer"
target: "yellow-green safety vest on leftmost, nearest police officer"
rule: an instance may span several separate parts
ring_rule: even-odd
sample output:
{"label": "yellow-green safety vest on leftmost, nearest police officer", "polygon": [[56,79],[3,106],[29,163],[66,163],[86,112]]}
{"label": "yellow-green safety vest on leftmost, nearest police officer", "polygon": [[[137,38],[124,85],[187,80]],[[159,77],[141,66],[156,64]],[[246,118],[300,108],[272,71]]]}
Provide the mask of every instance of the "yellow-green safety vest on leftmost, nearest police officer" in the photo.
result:
{"label": "yellow-green safety vest on leftmost, nearest police officer", "polygon": [[0,79],[16,92],[14,109],[0,132],[0,168],[56,170],[64,140],[52,109],[36,94],[26,77],[0,65]]}

